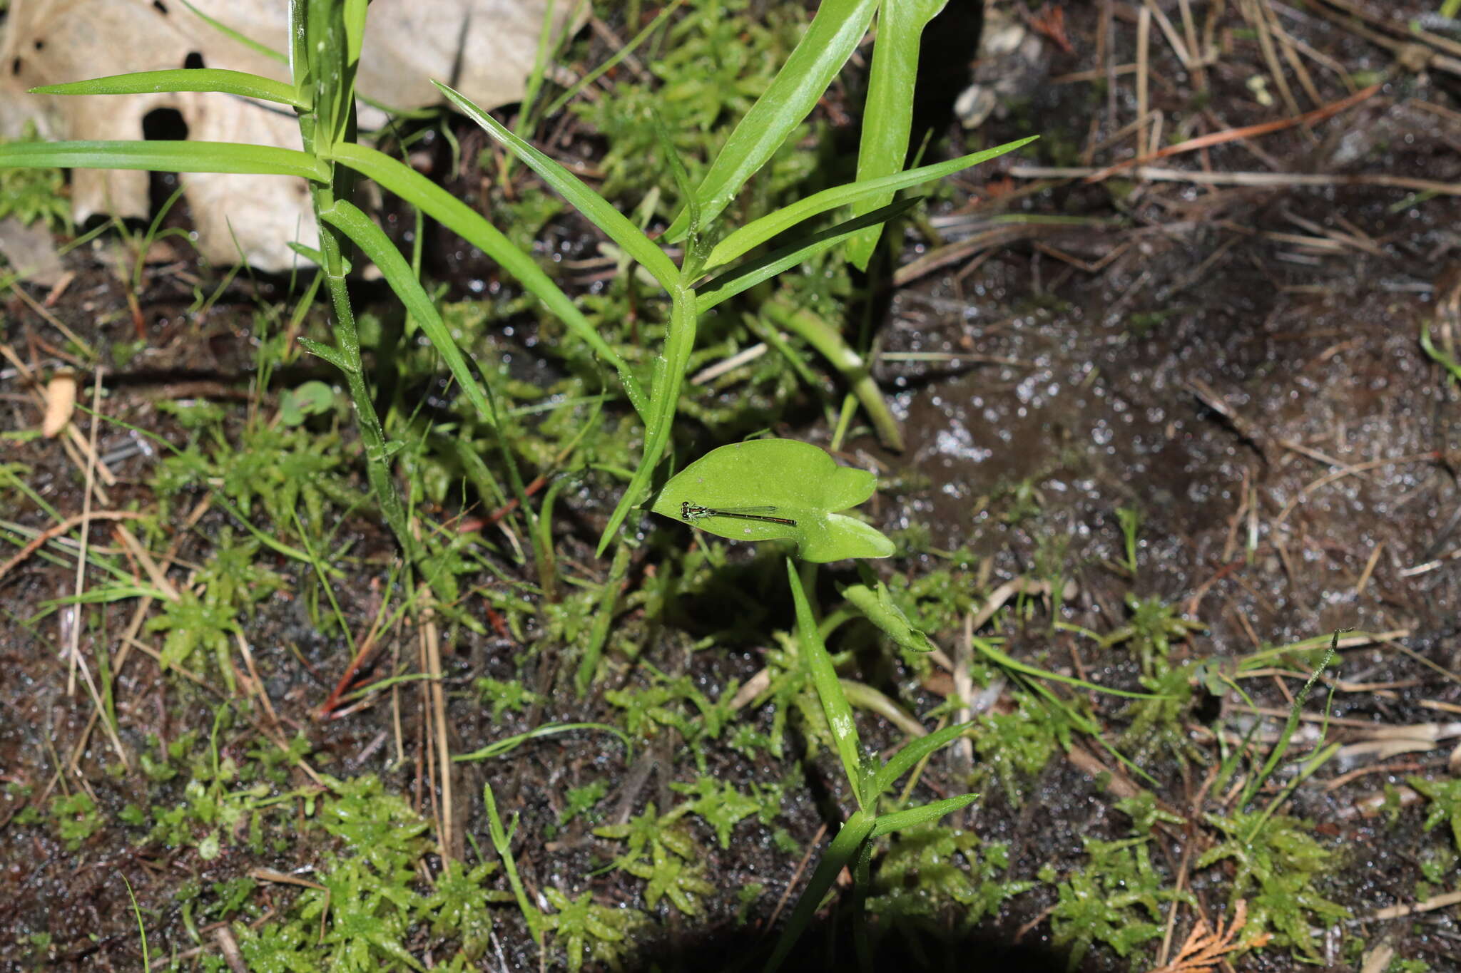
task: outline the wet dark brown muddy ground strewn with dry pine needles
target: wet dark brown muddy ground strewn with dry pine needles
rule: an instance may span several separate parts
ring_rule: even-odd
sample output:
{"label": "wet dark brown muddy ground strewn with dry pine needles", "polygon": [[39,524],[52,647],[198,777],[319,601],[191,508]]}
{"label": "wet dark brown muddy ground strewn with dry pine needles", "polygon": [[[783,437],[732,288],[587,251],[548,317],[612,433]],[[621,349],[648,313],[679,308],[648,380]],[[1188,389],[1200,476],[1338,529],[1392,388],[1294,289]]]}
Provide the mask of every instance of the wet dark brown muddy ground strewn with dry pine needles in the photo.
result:
{"label": "wet dark brown muddy ground strewn with dry pine needles", "polygon": [[[1090,82],[1048,79],[1102,69],[1102,34],[1109,38],[1113,64],[1134,63],[1140,6],[1067,4],[1065,34],[1074,53],[1043,41],[1034,77],[1045,80],[1021,92],[1018,111],[991,120],[974,134],[960,134],[953,125],[945,134],[963,139],[967,150],[1031,130],[1048,143],[1075,149],[1103,142],[1135,117],[1134,76],[1121,74],[1112,101],[1096,93]],[[1173,20],[1179,18],[1178,4],[1156,6]],[[1430,12],[1417,3],[1370,0],[1360,6],[1381,19],[1405,20]],[[1455,111],[1461,108],[1461,77],[1445,66],[1423,73],[1398,67],[1384,45],[1313,9],[1296,7],[1270,4],[1293,38],[1346,70],[1370,71],[1376,79],[1388,73],[1381,79],[1382,89],[1338,120],[1321,123],[1312,136],[1296,127],[1161,165],[1195,168],[1201,158],[1217,172],[1458,179],[1461,115]],[[1192,10],[1202,29],[1211,4],[1194,3]],[[1264,70],[1264,60],[1259,45],[1245,34],[1251,23],[1243,10],[1246,4],[1227,4],[1214,22],[1220,55],[1205,67],[1210,95],[1195,112],[1197,79],[1151,28],[1150,104],[1166,112],[1169,127],[1172,118],[1198,115],[1201,120],[1188,134],[1202,134],[1287,117],[1281,104],[1259,105],[1248,86],[1248,79]],[[1327,101],[1347,93],[1332,73],[1315,63],[1309,69]],[[1297,98],[1303,109],[1313,108],[1302,92]],[[1126,158],[1125,144],[1096,153],[1093,163]],[[948,150],[955,147],[950,144]],[[1081,162],[1027,155],[980,169],[966,177],[960,198],[935,214],[935,226],[945,244],[986,229],[980,220],[998,210],[999,200],[1033,182],[1008,177],[1010,165]],[[985,204],[977,206],[977,200]],[[970,546],[991,559],[996,581],[1037,572],[1056,557],[1077,582],[1065,620],[1097,632],[1126,621],[1122,600],[1128,591],[1179,604],[1208,627],[1179,646],[1179,656],[1236,656],[1343,627],[1394,633],[1388,642],[1344,651],[1338,675],[1360,689],[1335,693],[1334,713],[1401,726],[1443,721],[1457,712],[1461,686],[1436,667],[1461,671],[1461,489],[1455,478],[1461,397],[1446,382],[1445,371],[1424,354],[1419,336],[1423,322],[1442,334],[1448,303],[1455,306],[1461,201],[1442,194],[1407,204],[1404,188],[1388,187],[1118,187],[1056,178],[998,212],[1087,217],[1102,225],[1029,230],[1008,245],[974,251],[979,263],[972,270],[966,257],[891,295],[878,338],[884,353],[973,357],[884,359],[877,365],[877,376],[894,395],[903,419],[907,449],[888,454],[868,438],[849,443],[847,454],[853,461],[882,464],[901,484],[882,492],[874,508],[884,527],[929,524],[935,547]],[[910,257],[934,249],[937,244],[920,244]],[[131,319],[115,314],[124,303],[114,279],[83,257],[73,258],[72,265],[82,271],[80,277],[54,314],[86,337],[123,337]],[[248,353],[229,346],[247,331],[247,318],[229,321],[225,306],[207,322],[184,321],[181,309],[188,298],[177,289],[169,298],[165,289],[158,284],[145,301],[149,340],[159,350],[155,360],[175,368],[178,381],[234,373]],[[247,301],[238,305],[245,306]],[[98,327],[98,314],[111,321]],[[44,360],[48,350],[41,341],[58,343],[48,325],[15,298],[7,301],[4,318],[4,341],[22,357]],[[1454,327],[1461,330],[1461,322]],[[184,375],[184,369],[197,369],[197,375]],[[4,391],[18,392],[18,384],[6,381]],[[150,391],[118,387],[110,408],[145,427],[167,429],[148,404]],[[34,425],[29,406],[7,398],[3,407],[6,426]],[[827,436],[817,427],[787,432],[814,441]],[[53,505],[80,509],[75,477],[53,442],[6,443],[4,451],[6,461],[32,467],[31,484]],[[149,502],[140,486],[146,462],[137,457],[118,470],[123,483],[112,492],[117,506],[127,499]],[[926,486],[910,486],[920,483]],[[1034,503],[1024,516],[1012,515],[1020,497],[1033,497]],[[1141,515],[1135,579],[1115,566],[1124,559],[1118,508],[1135,508]],[[20,515],[32,518],[28,522],[39,519],[35,511],[16,512]],[[210,512],[202,527],[216,530],[219,522]],[[358,541],[356,556],[389,554],[378,527],[356,518],[348,530]],[[94,537],[111,543],[101,531]],[[188,560],[203,554],[203,541],[194,537],[178,556]],[[934,566],[928,560],[901,567],[916,573]],[[291,570],[283,563],[273,567]],[[0,604],[10,619],[0,629],[0,775],[6,782],[32,783],[41,791],[57,763],[69,763],[89,706],[64,694],[54,621],[37,629],[13,621],[66,592],[69,579],[60,569],[32,560],[0,584]],[[348,617],[364,619],[374,610],[370,591],[343,594]],[[118,613],[111,624],[124,624],[126,614]],[[329,772],[375,770],[392,786],[413,792],[419,756],[415,764],[408,759],[405,767],[387,772],[389,748],[375,743],[389,726],[387,709],[327,724],[310,719],[311,708],[329,691],[311,670],[333,671],[339,646],[311,629],[298,602],[266,602],[250,623],[248,639],[257,646],[256,659],[267,674],[266,686],[281,719],[291,732],[294,726],[305,729],[316,753],[335,757]],[[285,648],[291,643],[298,646],[298,655]],[[1078,665],[1099,683],[1129,684],[1134,672],[1129,664],[1107,664],[1074,635],[1052,635],[1045,621],[1015,630],[1007,648],[1011,655],[1049,668]],[[514,651],[510,640],[465,635],[449,646],[446,664],[456,686],[478,675],[510,678]],[[684,654],[666,636],[663,646],[652,649],[652,658],[665,668]],[[760,667],[751,649],[714,659],[695,655],[691,665],[707,693]],[[552,661],[539,661],[532,671],[541,686],[551,684]],[[174,693],[148,661],[130,662],[118,683],[123,741],[134,751],[145,747],[149,732],[168,740],[188,722],[210,721],[206,696],[191,703],[193,721],[178,712]],[[1290,681],[1289,689],[1296,686]],[[1277,680],[1261,689],[1255,680],[1252,687],[1264,705],[1284,703]],[[450,710],[451,747],[460,753],[545,719],[593,716],[593,703],[574,708],[555,702],[546,712],[494,722],[462,699]],[[403,724],[416,726],[421,719],[416,693],[405,693]],[[243,740],[253,731],[240,726],[237,732]],[[863,721],[863,732],[887,738],[872,719]],[[1296,811],[1313,818],[1335,848],[1337,868],[1324,894],[1357,916],[1414,902],[1422,850],[1443,836],[1443,829],[1423,833],[1414,807],[1389,827],[1372,814],[1373,799],[1386,785],[1401,786],[1407,773],[1443,775],[1445,753],[1405,754],[1384,767],[1373,764],[1372,772],[1332,789],[1327,782],[1338,772],[1321,772],[1299,791]],[[146,802],[145,782],[108,779],[99,770],[105,757],[104,741],[94,735],[79,761],[83,773],[96,780],[102,807],[114,814],[127,801]],[[674,795],[665,775],[655,773],[653,759],[650,754],[624,767],[617,750],[595,741],[546,743],[491,770],[462,764],[454,789],[479,794],[491,773],[500,802],[522,811],[523,833],[535,834],[541,824],[557,820],[557,795],[592,776],[636,780],[637,794],[630,792],[628,799],[652,798],[666,807]],[[761,780],[780,772],[768,761],[751,763],[735,754],[714,760],[720,763],[710,769],[730,780]],[[1195,772],[1183,773],[1176,766],[1148,770],[1163,782],[1164,802],[1197,810],[1201,780],[1192,776]],[[837,773],[830,763],[815,763],[809,776],[820,778],[824,788],[836,788]],[[460,824],[485,836],[479,802],[462,801],[462,808]],[[0,823],[19,810],[13,799],[0,804]],[[809,801],[787,818],[787,830],[804,843],[820,824]],[[1109,811],[1109,796],[1087,770],[1061,756],[1042,772],[1023,808],[991,795],[970,826],[1014,845],[1017,878],[1030,878],[1046,864],[1062,871],[1078,867],[1081,836],[1124,836],[1122,821]],[[118,830],[102,834],[115,837]],[[527,881],[554,884],[586,872],[592,867],[590,849],[579,837],[568,836],[552,849],[524,848],[520,868]],[[779,893],[795,867],[767,840],[739,840],[726,850],[713,842],[706,846],[710,872],[728,894],[709,903],[701,922],[678,918],[666,923],[668,945],[652,950],[660,960],[678,953],[681,969],[720,969],[725,957],[752,948],[733,937],[722,938],[736,912],[730,893],[749,881],[766,881]],[[149,920],[149,941],[158,955],[194,945],[178,909],[169,904],[180,883],[207,884],[251,868],[289,871],[313,853],[317,849],[291,848],[273,859],[224,856],[203,862],[188,852],[139,848],[126,840],[94,842],[67,852],[44,829],[0,826],[0,969],[38,969],[19,941],[20,934],[38,929],[56,935],[51,969],[137,969],[136,926],[118,874],[129,878],[142,907],[155,916]],[[1182,845],[1175,839],[1153,848],[1154,862],[1167,869],[1175,869],[1180,856]],[[633,894],[611,878],[600,881],[595,888],[605,903]],[[1195,890],[1208,907],[1226,902],[1220,881]],[[958,969],[1064,969],[1062,957],[1042,953],[1049,932],[1036,920],[1053,904],[1048,891],[1011,900],[996,920],[980,929],[979,941],[957,944],[950,958],[961,961]],[[286,903],[291,893],[266,885],[260,894],[273,907]],[[758,906],[761,916],[771,902],[774,896]],[[3,929],[16,931],[16,938],[7,938]],[[536,967],[536,960],[511,945],[526,942],[514,910],[497,913],[497,931],[508,944],[508,963],[523,963],[513,969]],[[1370,944],[1389,939],[1401,957],[1427,960],[1433,970],[1461,969],[1461,928],[1454,907],[1408,919],[1357,922],[1347,932]],[[836,941],[837,932],[818,941],[828,938]],[[1033,953],[970,966],[973,957],[992,957],[999,950]],[[1334,953],[1328,960],[1328,969],[1349,969]],[[885,960],[885,966],[894,964],[910,961]],[[1128,969],[1128,961],[1096,950],[1083,969]],[[1286,953],[1268,951],[1243,957],[1235,969],[1297,967]]]}

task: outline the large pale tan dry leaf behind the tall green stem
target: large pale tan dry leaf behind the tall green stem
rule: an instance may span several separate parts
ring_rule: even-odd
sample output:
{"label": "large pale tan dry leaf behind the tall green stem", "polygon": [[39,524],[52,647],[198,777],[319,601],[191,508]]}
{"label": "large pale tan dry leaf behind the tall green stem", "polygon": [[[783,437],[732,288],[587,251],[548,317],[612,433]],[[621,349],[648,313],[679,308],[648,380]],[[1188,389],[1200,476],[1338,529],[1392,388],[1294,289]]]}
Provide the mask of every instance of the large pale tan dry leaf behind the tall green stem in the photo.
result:
{"label": "large pale tan dry leaf behind the tall green stem", "polygon": [[[285,50],[286,0],[197,0],[200,10],[245,36]],[[558,25],[574,3],[557,3]],[[375,0],[365,28],[358,89],[392,108],[441,98],[444,80],[484,108],[519,101],[538,48],[548,0]],[[460,53],[460,57],[459,57]],[[226,67],[283,79],[286,70],[219,34],[186,7],[150,0],[13,0],[0,44],[0,136],[25,121],[51,139],[142,139],[142,120],[177,111],[188,137],[300,147],[294,112],[228,95],[188,92],[96,98],[23,96],[38,85],[184,67]],[[289,241],[318,239],[302,179],[188,174],[181,177],[203,255],[285,270],[297,263]],[[95,213],[148,216],[148,174],[76,171],[77,222]],[[235,244],[237,239],[237,244]]]}

